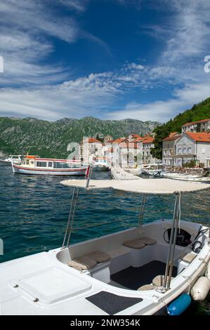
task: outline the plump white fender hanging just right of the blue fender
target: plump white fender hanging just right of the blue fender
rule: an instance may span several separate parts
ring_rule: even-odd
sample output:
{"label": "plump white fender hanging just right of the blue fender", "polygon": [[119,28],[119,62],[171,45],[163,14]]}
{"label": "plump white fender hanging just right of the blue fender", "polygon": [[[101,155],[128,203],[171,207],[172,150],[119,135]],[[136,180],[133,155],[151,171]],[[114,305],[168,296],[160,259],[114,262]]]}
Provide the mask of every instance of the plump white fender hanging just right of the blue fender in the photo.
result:
{"label": "plump white fender hanging just right of the blue fender", "polygon": [[207,277],[199,277],[197,282],[192,286],[190,296],[195,301],[203,301],[210,290],[210,280]]}

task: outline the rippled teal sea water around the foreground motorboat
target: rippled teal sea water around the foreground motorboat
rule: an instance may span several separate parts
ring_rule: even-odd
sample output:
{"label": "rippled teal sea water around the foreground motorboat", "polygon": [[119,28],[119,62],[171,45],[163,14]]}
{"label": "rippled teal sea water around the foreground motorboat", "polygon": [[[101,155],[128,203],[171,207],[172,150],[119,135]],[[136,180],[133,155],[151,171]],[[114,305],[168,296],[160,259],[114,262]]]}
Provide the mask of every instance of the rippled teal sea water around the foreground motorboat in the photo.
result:
{"label": "rippled teal sea water around the foreground motorboat", "polygon": [[[0,166],[0,262],[62,246],[72,196],[72,189],[60,184],[65,178],[14,174]],[[92,178],[110,173],[93,172]],[[137,194],[80,192],[71,243],[136,225],[140,202]],[[172,218],[173,203],[174,196],[147,197],[144,222]],[[209,209],[209,191],[183,194],[182,220],[210,225]]]}

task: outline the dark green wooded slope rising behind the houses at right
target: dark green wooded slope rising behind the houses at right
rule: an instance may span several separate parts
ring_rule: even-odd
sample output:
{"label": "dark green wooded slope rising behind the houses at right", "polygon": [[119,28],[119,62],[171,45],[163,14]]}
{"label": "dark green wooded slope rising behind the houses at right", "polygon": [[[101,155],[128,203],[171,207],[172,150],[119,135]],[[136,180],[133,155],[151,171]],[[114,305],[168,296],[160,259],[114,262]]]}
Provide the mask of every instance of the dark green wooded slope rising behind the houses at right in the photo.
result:
{"label": "dark green wooded slope rising behind the houses at right", "polygon": [[152,150],[152,155],[158,159],[162,159],[162,140],[169,136],[171,132],[180,132],[183,124],[190,121],[197,121],[210,118],[210,98],[193,105],[192,109],[178,114],[174,119],[169,120],[166,124],[157,126],[154,130],[155,148]]}

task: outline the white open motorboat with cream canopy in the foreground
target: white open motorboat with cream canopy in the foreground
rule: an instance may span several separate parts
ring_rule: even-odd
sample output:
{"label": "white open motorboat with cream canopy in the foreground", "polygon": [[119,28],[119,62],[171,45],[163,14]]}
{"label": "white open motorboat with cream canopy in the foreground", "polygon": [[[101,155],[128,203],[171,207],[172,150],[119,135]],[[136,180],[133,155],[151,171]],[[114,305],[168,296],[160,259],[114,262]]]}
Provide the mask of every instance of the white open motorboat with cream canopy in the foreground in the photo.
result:
{"label": "white open motorboat with cream canopy in the foreground", "polygon": [[[190,297],[187,293],[209,262],[209,227],[181,220],[181,193],[210,185],[90,176],[62,184],[73,188],[63,246],[1,263],[1,315],[156,315],[182,293]],[[79,190],[142,194],[136,226],[71,244]],[[149,194],[175,196],[172,221],[143,224]],[[96,225],[106,224],[103,219]],[[93,227],[88,218],[84,227]]]}

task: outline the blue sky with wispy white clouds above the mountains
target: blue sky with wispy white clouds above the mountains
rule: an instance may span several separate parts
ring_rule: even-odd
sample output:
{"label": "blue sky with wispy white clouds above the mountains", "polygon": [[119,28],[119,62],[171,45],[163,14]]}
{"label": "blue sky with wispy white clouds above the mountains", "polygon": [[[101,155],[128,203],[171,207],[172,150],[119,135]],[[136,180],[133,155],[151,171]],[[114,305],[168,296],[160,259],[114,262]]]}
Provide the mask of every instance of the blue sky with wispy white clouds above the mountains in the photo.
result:
{"label": "blue sky with wispy white clouds above the mountains", "polygon": [[165,122],[210,97],[208,55],[209,0],[1,0],[0,116]]}

